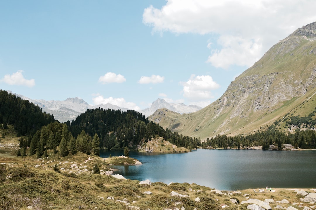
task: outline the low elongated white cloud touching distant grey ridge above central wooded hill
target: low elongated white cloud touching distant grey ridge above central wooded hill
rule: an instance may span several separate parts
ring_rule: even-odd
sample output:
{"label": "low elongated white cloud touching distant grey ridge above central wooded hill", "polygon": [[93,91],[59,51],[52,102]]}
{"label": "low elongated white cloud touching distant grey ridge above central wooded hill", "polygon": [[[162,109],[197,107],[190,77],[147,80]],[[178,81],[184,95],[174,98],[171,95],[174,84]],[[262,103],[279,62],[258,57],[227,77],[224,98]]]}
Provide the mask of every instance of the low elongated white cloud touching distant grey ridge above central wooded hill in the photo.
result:
{"label": "low elongated white cloud touching distant grey ridge above central wooded hill", "polygon": [[107,99],[103,98],[103,96],[99,95],[95,98],[92,99],[94,102],[94,105],[100,105],[100,104],[107,104],[110,103],[112,105],[117,105],[121,108],[128,108],[128,109],[133,109],[135,111],[139,111],[140,107],[138,107],[135,103],[133,102],[127,102],[123,98],[113,98],[109,97]]}

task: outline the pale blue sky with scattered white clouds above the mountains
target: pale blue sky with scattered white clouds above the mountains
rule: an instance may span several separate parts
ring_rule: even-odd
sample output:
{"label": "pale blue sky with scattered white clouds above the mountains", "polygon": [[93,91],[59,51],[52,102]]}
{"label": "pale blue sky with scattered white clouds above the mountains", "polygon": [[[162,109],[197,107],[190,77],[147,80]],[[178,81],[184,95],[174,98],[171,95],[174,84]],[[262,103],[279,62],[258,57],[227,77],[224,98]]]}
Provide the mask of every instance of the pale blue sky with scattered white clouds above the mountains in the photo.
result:
{"label": "pale blue sky with scattered white clouds above the mountains", "polygon": [[0,89],[141,110],[201,107],[272,45],[316,21],[316,1],[0,1]]}

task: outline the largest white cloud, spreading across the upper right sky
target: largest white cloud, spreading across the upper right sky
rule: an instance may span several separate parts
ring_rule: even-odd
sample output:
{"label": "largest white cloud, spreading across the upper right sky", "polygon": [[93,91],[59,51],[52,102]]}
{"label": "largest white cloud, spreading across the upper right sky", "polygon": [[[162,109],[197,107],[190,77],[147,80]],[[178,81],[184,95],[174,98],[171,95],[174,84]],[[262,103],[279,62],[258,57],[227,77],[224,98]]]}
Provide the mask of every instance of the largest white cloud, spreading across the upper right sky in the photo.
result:
{"label": "largest white cloud, spreading across the upper right sky", "polygon": [[309,0],[167,0],[161,9],[144,9],[143,23],[153,33],[216,34],[220,46],[209,42],[207,61],[228,68],[252,65],[280,39],[314,22],[314,8],[316,1]]}

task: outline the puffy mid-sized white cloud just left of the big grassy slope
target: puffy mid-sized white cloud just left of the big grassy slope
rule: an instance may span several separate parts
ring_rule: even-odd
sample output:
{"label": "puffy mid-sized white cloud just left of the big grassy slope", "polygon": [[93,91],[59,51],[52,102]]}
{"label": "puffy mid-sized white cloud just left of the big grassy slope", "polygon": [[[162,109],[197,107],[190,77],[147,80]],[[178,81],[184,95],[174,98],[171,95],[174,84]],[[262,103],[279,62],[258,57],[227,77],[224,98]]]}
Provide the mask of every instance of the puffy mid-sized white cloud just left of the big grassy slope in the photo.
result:
{"label": "puffy mid-sized white cloud just left of the big grassy slope", "polygon": [[211,90],[220,87],[209,75],[191,75],[191,78],[187,82],[182,82],[181,84],[183,85],[183,96],[190,101],[201,101],[214,98]]}

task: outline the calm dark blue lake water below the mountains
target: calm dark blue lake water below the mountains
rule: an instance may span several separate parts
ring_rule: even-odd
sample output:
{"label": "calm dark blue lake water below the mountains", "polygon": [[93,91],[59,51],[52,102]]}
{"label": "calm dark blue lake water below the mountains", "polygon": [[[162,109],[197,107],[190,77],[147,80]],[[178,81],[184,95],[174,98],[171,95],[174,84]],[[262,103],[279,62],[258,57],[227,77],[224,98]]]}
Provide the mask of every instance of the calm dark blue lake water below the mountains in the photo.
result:
{"label": "calm dark blue lake water below the mountains", "polygon": [[[100,151],[100,157],[123,155]],[[316,151],[207,150],[130,152],[143,165],[111,165],[127,179],[196,183],[219,190],[316,188]]]}

